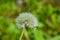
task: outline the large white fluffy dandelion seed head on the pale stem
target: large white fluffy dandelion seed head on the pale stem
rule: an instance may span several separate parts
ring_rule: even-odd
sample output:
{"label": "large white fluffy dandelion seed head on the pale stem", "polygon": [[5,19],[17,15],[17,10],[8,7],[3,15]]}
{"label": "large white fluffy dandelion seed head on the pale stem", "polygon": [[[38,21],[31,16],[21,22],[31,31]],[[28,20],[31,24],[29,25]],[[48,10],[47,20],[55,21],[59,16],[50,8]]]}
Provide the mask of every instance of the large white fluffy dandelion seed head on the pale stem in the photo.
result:
{"label": "large white fluffy dandelion seed head on the pale stem", "polygon": [[23,28],[26,25],[29,28],[36,28],[38,21],[34,15],[31,13],[21,13],[16,18],[16,24],[19,29]]}

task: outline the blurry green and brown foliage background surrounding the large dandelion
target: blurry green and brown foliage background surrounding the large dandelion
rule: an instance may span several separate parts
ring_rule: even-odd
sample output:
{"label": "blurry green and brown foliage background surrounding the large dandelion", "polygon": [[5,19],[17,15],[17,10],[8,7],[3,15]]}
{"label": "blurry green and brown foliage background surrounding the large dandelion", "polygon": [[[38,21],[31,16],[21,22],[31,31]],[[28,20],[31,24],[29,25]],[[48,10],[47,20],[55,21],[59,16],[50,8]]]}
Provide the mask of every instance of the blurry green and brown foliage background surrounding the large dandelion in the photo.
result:
{"label": "blurry green and brown foliage background surrounding the large dandelion", "polygon": [[60,0],[0,0],[0,40],[19,40],[16,17],[21,12],[38,20],[35,32],[27,31],[31,40],[60,40]]}

